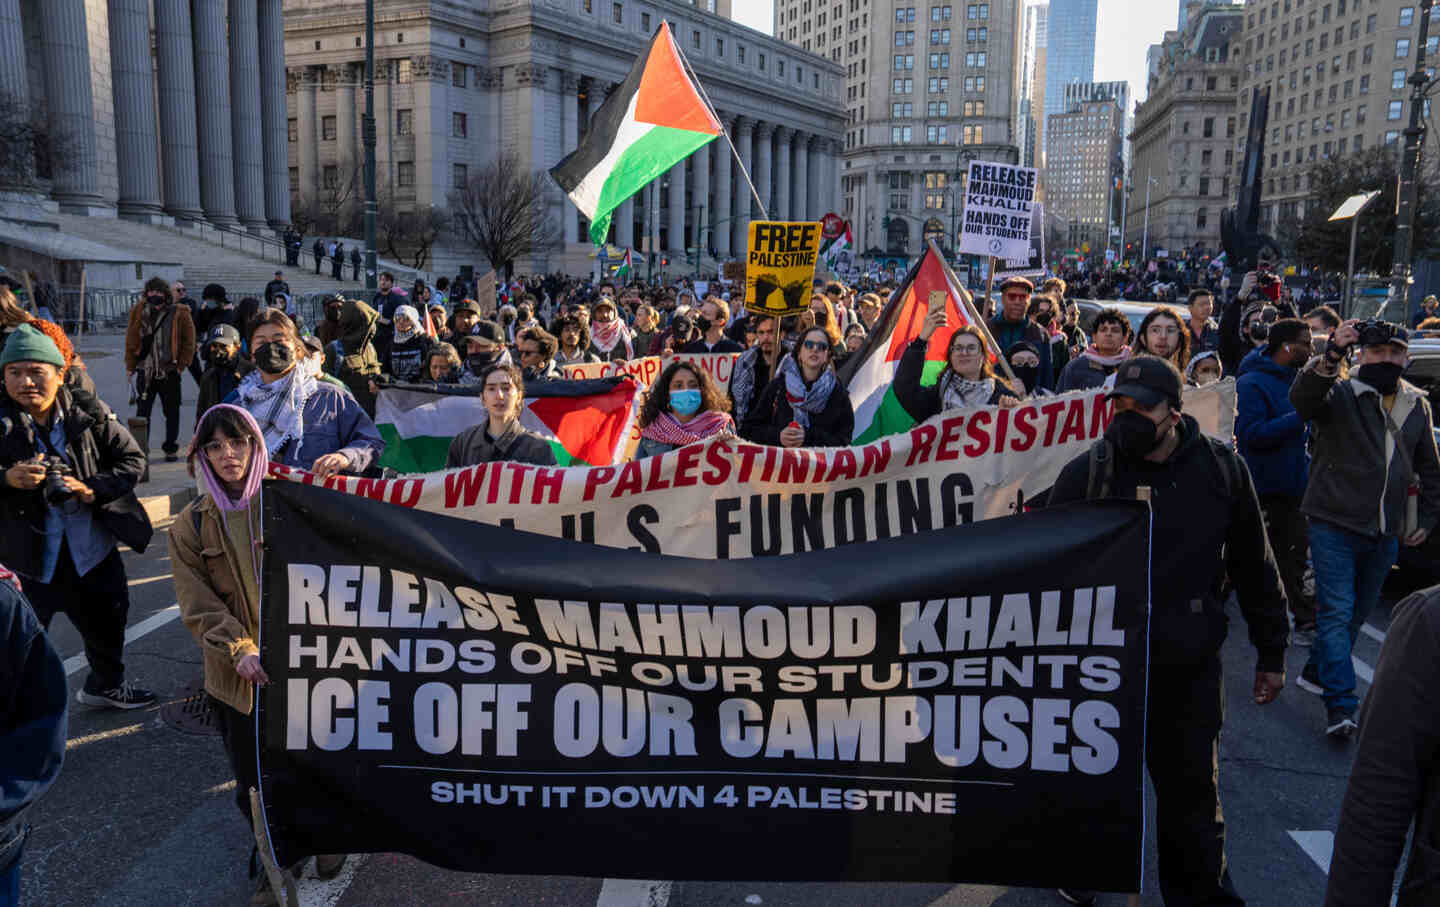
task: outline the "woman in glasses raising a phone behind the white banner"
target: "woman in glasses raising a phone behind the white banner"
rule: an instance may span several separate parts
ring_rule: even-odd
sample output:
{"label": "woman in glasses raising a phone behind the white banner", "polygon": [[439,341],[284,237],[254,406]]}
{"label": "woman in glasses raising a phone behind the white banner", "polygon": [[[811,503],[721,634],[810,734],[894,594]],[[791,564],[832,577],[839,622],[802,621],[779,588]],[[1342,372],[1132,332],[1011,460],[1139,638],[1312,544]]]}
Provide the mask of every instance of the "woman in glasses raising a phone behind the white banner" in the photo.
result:
{"label": "woman in glasses raising a phone behind the white banner", "polygon": [[966,324],[950,334],[945,353],[945,369],[935,384],[922,384],[924,374],[924,353],[930,337],[949,324],[945,311],[933,311],[920,325],[920,335],[910,341],[900,366],[896,369],[896,397],[910,418],[924,422],[930,416],[950,409],[975,409],[976,406],[1018,406],[1020,394],[995,374],[985,354],[985,334],[973,324]]}

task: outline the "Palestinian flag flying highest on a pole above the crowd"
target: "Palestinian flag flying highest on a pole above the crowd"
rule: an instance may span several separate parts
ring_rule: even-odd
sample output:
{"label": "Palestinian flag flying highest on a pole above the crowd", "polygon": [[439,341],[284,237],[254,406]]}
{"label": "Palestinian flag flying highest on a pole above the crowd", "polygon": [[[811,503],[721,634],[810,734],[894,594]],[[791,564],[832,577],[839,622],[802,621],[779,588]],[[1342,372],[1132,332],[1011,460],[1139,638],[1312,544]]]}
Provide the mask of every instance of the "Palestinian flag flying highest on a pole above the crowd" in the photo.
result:
{"label": "Palestinian flag flying highest on a pole above the crowd", "polygon": [[670,23],[661,22],[625,82],[590,117],[580,147],[550,176],[589,219],[590,242],[600,245],[611,212],[720,131],[685,72]]}

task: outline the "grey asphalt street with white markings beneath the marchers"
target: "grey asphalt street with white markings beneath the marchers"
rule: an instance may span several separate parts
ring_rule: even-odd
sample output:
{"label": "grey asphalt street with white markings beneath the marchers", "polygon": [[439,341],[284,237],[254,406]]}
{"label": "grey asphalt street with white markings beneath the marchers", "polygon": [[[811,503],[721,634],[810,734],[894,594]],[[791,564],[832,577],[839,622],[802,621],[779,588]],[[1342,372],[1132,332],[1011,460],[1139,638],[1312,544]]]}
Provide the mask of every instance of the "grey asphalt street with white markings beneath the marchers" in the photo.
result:
{"label": "grey asphalt street with white markings beneath the marchers", "polygon": [[[112,340],[91,341],[96,351]],[[82,351],[88,347],[81,344]],[[92,373],[102,394],[124,415],[105,357]],[[122,380],[122,376],[120,377]],[[184,379],[186,426],[193,423],[194,384]],[[158,415],[158,412],[157,412]],[[158,442],[157,442],[158,446]],[[183,485],[174,466],[153,488]],[[167,485],[168,482],[168,485]],[[141,487],[141,494],[151,494]],[[249,829],[233,805],[235,780],[220,739],[177,720],[200,687],[199,649],[177,619],[164,528],[150,549],[125,553],[130,576],[127,671],[160,695],[153,708],[130,713],[72,705],[65,770],[30,816],[35,834],[24,855],[22,903],[36,906],[243,904]],[[1371,615],[1356,644],[1358,672],[1368,678],[1390,621],[1390,602],[1408,592],[1405,577],[1387,587],[1387,603]],[[1224,646],[1227,718],[1220,785],[1228,828],[1231,874],[1253,906],[1319,904],[1331,836],[1349,773],[1352,746],[1323,736],[1318,697],[1290,682],[1279,701],[1250,698],[1254,652],[1231,602]],[[63,616],[52,639],[73,691],[85,680],[79,636]],[[1305,649],[1292,649],[1287,675],[1299,672]],[[1361,691],[1368,690],[1362,680]],[[200,731],[200,733],[194,733]],[[1146,790],[1153,835],[1153,793]],[[624,826],[616,826],[624,834]],[[497,834],[504,834],[497,829]],[[1044,854],[1034,854],[1044,861]],[[717,855],[717,865],[720,855]],[[727,867],[727,871],[730,868]],[[590,906],[596,907],[979,907],[1061,904],[1053,891],[948,884],[773,884],[595,880],[449,872],[409,857],[353,858],[341,875],[320,881],[307,871],[307,906],[384,907],[410,904]],[[743,874],[743,870],[742,870]],[[1142,904],[1161,904],[1153,841],[1146,842]],[[1119,894],[1100,904],[1125,904]]]}

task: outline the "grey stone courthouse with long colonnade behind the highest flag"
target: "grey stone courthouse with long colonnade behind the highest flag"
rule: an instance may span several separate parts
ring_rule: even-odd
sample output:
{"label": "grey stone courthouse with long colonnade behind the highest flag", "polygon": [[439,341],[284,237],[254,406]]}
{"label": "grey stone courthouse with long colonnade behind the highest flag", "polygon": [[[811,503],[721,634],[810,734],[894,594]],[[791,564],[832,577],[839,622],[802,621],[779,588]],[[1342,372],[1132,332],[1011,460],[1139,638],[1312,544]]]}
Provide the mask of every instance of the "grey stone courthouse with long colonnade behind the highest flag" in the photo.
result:
{"label": "grey stone courthouse with long colonnade behind the highest flag", "polygon": [[[3,0],[0,0],[3,1]],[[772,219],[819,219],[840,204],[844,72],[736,24],[711,0],[379,0],[374,112],[379,197],[441,207],[501,151],[544,170],[576,148],[606,92],[625,79],[661,20],[700,78]],[[285,0],[289,189],[295,203],[333,190],[363,155],[364,3]],[[723,138],[616,213],[611,242],[683,259],[687,248],[742,255],[759,209]],[[582,274],[588,223],[557,187],[553,252],[520,271]],[[472,262],[436,249],[433,266]],[[672,268],[674,271],[674,268]],[[684,268],[688,272],[688,268]]]}

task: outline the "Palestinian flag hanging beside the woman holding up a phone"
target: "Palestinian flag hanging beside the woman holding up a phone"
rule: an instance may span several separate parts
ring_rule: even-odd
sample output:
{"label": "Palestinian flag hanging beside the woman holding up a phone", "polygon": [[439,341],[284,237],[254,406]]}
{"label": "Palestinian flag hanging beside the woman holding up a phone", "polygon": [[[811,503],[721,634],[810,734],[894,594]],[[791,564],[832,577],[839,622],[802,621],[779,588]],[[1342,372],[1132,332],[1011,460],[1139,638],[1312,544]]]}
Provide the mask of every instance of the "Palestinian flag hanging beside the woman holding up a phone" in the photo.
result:
{"label": "Palestinian flag hanging beside the woman holding up a phone", "polygon": [[[932,240],[900,286],[890,294],[890,301],[865,337],[865,344],[840,370],[840,380],[850,390],[850,405],[855,410],[854,443],[868,443],[884,435],[909,430],[914,425],[910,413],[900,406],[891,384],[900,366],[900,356],[910,341],[920,335],[920,327],[929,312],[930,294],[935,291],[945,292],[945,314],[950,322],[930,335],[922,384],[935,384],[939,380],[955,330],[975,324],[979,318],[973,314],[975,307],[969,292],[960,286]],[[985,340],[994,361],[996,350],[989,331],[985,331]]]}

